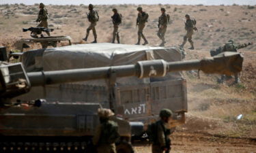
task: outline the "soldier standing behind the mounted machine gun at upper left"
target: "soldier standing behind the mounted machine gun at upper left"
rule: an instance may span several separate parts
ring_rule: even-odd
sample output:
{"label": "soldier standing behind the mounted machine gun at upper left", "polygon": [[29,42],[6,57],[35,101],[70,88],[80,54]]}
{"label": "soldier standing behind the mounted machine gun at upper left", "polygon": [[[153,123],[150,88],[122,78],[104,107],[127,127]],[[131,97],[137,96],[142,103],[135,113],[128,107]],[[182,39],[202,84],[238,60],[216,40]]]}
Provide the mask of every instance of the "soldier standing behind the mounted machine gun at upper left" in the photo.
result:
{"label": "soldier standing behind the mounted machine gun at upper left", "polygon": [[[44,4],[43,3],[39,4],[39,8],[40,8],[40,11],[38,12],[38,19],[35,20],[35,22],[40,22],[38,24],[38,27],[48,28],[48,22],[47,22],[48,12],[47,12],[46,8],[44,8]],[[48,36],[50,36],[49,32],[46,32],[46,34]]]}

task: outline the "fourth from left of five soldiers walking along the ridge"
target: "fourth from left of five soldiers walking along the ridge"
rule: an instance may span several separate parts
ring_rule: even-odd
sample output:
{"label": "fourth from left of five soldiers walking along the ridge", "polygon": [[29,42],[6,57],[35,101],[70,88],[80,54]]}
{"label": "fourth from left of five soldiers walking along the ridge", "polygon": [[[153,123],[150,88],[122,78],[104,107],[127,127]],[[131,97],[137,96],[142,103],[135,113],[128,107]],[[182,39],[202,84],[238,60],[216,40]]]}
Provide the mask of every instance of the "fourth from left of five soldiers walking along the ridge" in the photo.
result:
{"label": "fourth from left of five soldiers walking along the ridge", "polygon": [[167,30],[168,17],[165,8],[161,8],[162,15],[158,19],[158,37],[162,39],[160,46],[165,46],[165,32]]}

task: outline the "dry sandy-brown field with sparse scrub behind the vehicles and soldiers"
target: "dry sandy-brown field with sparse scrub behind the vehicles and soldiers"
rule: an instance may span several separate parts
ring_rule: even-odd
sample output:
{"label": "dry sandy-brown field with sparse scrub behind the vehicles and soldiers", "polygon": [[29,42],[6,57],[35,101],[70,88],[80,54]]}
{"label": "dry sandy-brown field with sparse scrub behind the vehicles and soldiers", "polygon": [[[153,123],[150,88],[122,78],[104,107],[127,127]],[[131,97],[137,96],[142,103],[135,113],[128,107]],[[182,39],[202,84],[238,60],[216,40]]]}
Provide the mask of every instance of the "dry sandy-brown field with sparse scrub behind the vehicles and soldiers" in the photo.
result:
{"label": "dry sandy-brown field with sparse scrub behind the vehicles and soldiers", "polygon": [[[85,5],[48,5],[50,28],[59,27],[52,35],[70,35],[75,44],[85,43],[85,31],[89,26]],[[100,21],[96,27],[98,42],[111,42],[113,26],[112,8],[124,16],[120,27],[122,44],[137,43],[137,5],[97,5]],[[240,43],[256,43],[256,7],[247,5],[142,5],[150,20],[145,36],[150,46],[160,44],[157,23],[160,7],[167,9],[171,24],[167,29],[167,46],[182,43],[184,15],[197,19],[198,32],[193,35],[196,50],[186,50],[186,59],[210,56],[209,50],[223,45],[229,39]],[[0,46],[15,50],[14,43],[29,38],[22,28],[35,27],[38,5],[0,5]],[[92,33],[89,41],[93,41]],[[62,46],[65,44],[59,44]],[[185,49],[189,47],[186,44]],[[31,48],[40,48],[33,45]],[[219,75],[206,75],[197,71],[184,72],[188,86],[188,113],[186,124],[178,126],[171,136],[172,152],[256,152],[256,46],[239,50],[244,56],[241,83],[232,85],[233,78],[225,84],[217,84]],[[242,114],[239,120],[237,116]],[[135,145],[137,153],[150,152],[147,143]]]}

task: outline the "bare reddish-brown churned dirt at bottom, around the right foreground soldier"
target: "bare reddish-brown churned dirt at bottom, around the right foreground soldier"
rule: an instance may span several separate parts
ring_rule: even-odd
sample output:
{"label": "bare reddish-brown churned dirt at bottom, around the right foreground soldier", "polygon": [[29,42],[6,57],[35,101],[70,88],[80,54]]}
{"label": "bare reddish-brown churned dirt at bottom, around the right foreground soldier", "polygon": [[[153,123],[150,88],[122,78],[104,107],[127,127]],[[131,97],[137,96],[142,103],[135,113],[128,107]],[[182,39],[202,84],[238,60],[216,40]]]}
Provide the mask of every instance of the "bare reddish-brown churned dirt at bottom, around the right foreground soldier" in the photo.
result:
{"label": "bare reddish-brown churned dirt at bottom, around the right foreground soldier", "polygon": [[[188,133],[177,131],[171,136],[173,153],[251,153],[256,150],[256,140],[239,137],[220,137],[218,135],[209,135],[208,133]],[[147,143],[135,145],[137,153],[150,152],[151,147]]]}

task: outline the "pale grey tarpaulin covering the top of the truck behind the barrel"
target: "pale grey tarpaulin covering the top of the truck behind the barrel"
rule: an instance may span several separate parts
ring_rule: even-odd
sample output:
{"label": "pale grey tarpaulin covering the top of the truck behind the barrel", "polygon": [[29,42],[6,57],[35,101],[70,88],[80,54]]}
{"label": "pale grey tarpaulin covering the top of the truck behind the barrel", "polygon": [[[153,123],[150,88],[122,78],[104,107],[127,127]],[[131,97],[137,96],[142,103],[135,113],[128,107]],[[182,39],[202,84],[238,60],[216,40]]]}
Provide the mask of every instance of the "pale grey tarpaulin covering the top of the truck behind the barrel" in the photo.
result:
{"label": "pale grey tarpaulin covering the top of the truck behind the barrel", "polygon": [[[174,47],[162,48],[109,43],[47,48],[44,50],[42,58],[37,57],[33,59],[31,56],[26,57],[26,59],[23,58],[23,61],[26,61],[25,63],[33,61],[32,65],[37,63],[33,67],[40,67],[41,65],[44,71],[130,65],[137,63],[137,61],[154,59],[163,59],[167,62],[182,61],[180,50]],[[31,68],[31,65],[29,67]],[[142,80],[136,77],[117,78],[117,84],[149,83],[150,80],[160,81],[177,78],[182,78],[180,72],[168,73],[164,78],[145,78]],[[89,81],[86,84],[103,85],[105,81]]]}

